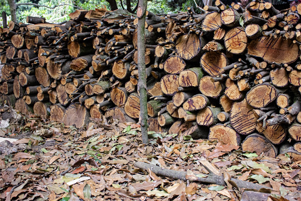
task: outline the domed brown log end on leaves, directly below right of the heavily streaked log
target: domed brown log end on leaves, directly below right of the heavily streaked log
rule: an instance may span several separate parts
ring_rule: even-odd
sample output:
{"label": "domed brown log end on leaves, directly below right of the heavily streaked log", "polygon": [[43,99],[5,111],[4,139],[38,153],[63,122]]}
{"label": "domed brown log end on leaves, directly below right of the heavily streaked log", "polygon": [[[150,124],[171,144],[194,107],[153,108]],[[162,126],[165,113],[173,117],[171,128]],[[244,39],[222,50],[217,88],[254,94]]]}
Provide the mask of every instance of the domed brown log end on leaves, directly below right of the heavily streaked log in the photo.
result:
{"label": "domed brown log end on leaves, directly below right of the heavily streaked log", "polygon": [[243,151],[256,152],[258,155],[265,155],[275,158],[277,149],[264,136],[257,133],[248,135],[243,143],[241,143]]}

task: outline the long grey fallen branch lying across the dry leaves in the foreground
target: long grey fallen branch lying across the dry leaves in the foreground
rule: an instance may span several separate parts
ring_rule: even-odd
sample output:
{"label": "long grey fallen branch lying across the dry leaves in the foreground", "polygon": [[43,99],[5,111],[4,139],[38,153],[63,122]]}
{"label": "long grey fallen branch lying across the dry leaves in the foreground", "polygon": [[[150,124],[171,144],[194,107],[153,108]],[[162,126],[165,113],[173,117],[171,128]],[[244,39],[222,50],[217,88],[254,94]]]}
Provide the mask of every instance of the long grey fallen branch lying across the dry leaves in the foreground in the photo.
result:
{"label": "long grey fallen branch lying across the dry leaves in the foreground", "polygon": [[[154,172],[157,175],[169,177],[174,180],[177,180],[177,179],[180,179],[183,181],[188,180],[186,178],[185,171],[175,171],[175,170],[163,169],[157,165],[147,164],[144,162],[135,162],[134,166],[137,168],[143,169],[143,170],[150,169],[152,172]],[[223,176],[218,176],[213,173],[208,174],[208,177],[195,177],[194,179],[192,177],[189,177],[189,180],[200,181],[200,182],[209,183],[209,184],[217,184],[217,185],[222,185],[222,186],[227,185],[226,182],[224,181]],[[242,181],[242,180],[234,179],[234,178],[231,178],[230,181],[231,181],[232,185],[233,185],[233,183],[235,183],[238,188],[247,188],[247,189],[256,189],[256,190],[259,190],[262,188],[271,189],[270,187],[262,186],[260,184],[254,184],[254,183],[251,183],[248,181]]]}

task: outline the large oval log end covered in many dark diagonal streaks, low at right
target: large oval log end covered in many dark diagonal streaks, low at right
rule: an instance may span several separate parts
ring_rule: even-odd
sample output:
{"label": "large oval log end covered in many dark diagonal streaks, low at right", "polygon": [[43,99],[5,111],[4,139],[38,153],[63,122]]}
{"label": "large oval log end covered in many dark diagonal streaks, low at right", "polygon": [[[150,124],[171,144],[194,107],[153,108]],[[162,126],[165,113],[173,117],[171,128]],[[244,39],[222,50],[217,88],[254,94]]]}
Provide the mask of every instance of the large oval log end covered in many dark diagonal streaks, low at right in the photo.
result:
{"label": "large oval log end covered in many dark diagonal streaks, low at right", "polygon": [[253,109],[246,99],[233,103],[230,111],[230,122],[237,133],[248,135],[256,129],[257,118],[252,111]]}

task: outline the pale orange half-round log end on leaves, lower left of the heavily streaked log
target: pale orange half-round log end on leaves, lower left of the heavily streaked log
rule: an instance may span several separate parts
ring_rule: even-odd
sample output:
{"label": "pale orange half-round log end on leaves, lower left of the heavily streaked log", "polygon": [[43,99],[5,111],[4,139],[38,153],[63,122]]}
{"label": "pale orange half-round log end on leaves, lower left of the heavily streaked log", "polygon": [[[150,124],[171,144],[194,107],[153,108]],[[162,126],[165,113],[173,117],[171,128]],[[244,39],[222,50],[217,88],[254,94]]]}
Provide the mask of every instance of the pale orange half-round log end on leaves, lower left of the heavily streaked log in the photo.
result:
{"label": "pale orange half-round log end on leaves, lower left of the heavily streaked log", "polygon": [[240,146],[240,135],[231,127],[216,124],[210,127],[208,140],[222,140],[225,144]]}

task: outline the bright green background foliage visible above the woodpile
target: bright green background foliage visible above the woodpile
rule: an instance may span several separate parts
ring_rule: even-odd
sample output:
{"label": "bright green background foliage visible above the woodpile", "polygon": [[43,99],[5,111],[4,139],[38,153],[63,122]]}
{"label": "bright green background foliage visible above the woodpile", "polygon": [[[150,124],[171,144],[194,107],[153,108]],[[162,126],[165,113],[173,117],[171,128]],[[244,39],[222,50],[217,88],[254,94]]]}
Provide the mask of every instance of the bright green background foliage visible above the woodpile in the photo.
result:
{"label": "bright green background foliage visible above the woodpile", "polygon": [[[126,0],[123,0],[125,4]],[[53,7],[54,5],[62,5],[56,8],[46,8],[46,7],[36,7],[33,5],[20,5],[17,7],[17,19],[18,22],[26,22],[27,16],[35,16],[35,17],[45,17],[47,22],[57,23],[62,22],[64,20],[69,20],[69,13],[74,12],[77,8],[73,6],[80,7],[82,9],[90,10],[101,7],[105,5],[108,9],[110,9],[110,4],[106,0],[20,0],[15,1],[18,3],[35,3],[39,5],[46,5],[48,7]],[[120,1],[116,1],[118,8],[122,8]],[[131,0],[131,7],[134,8],[138,0]],[[196,3],[202,7],[202,0],[196,0]],[[194,0],[151,0],[147,3],[147,10],[154,13],[176,13],[177,11],[185,11],[187,7],[194,7],[195,11],[198,12],[198,9],[195,6]],[[126,6],[124,6],[126,7]],[[5,11],[8,15],[9,22],[9,5],[7,0],[0,0],[0,8],[1,12]],[[0,22],[2,26],[2,20]]]}

